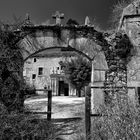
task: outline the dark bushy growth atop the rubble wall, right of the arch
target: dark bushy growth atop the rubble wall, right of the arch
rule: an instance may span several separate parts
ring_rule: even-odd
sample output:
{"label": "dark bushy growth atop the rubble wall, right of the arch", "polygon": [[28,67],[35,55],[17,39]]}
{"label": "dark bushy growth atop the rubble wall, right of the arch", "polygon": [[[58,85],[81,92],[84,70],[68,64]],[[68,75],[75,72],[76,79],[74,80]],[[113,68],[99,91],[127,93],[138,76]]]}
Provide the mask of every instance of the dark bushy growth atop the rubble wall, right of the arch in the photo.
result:
{"label": "dark bushy growth atop the rubble wall, right of the arch", "polygon": [[116,32],[107,40],[109,46],[103,48],[107,59],[118,57],[129,61],[130,57],[134,55],[132,54],[134,46],[130,38],[123,32]]}

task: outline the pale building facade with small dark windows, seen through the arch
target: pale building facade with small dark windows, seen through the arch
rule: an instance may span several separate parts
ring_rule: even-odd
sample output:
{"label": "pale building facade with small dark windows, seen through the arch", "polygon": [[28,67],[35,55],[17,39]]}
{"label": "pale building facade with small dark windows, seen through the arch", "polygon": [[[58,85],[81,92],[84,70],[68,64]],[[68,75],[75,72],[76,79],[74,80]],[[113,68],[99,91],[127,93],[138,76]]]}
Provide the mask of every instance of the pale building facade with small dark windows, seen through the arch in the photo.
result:
{"label": "pale building facade with small dark windows, seen through the arch", "polygon": [[[24,64],[24,79],[36,89],[51,88],[54,96],[76,95],[76,90],[67,82],[60,61],[64,57],[39,57],[29,58]],[[38,91],[38,94],[44,94]]]}

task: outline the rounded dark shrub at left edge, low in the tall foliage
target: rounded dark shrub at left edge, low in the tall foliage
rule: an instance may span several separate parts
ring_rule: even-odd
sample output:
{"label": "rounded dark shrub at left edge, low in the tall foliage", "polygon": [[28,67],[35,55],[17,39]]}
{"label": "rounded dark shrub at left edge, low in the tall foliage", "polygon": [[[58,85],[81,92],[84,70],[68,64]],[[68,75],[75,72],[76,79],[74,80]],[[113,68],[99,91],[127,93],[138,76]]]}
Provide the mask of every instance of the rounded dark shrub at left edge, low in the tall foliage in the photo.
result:
{"label": "rounded dark shrub at left edge, low in the tall foliage", "polygon": [[23,93],[20,91],[20,82],[17,78],[9,76],[1,82],[0,101],[7,107],[10,112],[12,110],[22,110],[24,106]]}

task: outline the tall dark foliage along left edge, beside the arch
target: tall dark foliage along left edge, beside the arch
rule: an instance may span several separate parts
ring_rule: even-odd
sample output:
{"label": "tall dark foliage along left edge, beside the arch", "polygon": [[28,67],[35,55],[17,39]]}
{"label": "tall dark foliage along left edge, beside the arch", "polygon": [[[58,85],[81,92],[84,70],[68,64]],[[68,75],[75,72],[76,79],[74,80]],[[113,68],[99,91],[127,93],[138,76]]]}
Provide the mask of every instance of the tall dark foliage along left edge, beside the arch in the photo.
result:
{"label": "tall dark foliage along left edge, beside the arch", "polygon": [[18,27],[3,24],[0,28],[0,102],[8,111],[21,111],[24,106],[23,57],[17,45],[22,36],[15,32]]}

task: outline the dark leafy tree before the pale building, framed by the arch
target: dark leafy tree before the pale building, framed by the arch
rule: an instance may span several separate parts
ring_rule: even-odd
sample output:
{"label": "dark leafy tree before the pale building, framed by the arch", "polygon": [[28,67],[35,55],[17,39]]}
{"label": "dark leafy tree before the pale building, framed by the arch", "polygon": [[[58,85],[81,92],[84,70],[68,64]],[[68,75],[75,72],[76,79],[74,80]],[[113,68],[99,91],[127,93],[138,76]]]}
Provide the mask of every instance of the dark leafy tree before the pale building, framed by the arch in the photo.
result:
{"label": "dark leafy tree before the pale building, framed by the arch", "polygon": [[81,89],[90,83],[91,63],[82,56],[78,56],[61,61],[60,65],[63,67],[66,79],[76,88],[77,96],[81,97]]}

